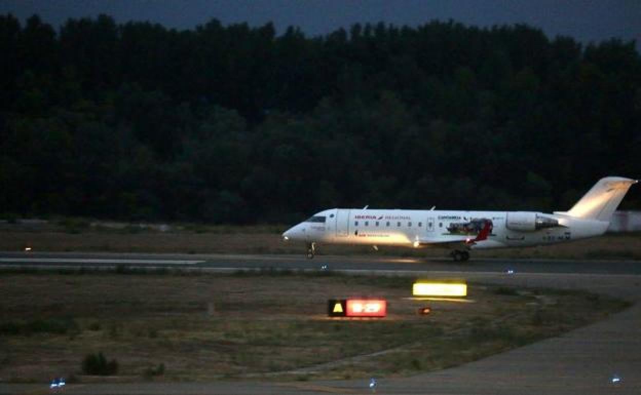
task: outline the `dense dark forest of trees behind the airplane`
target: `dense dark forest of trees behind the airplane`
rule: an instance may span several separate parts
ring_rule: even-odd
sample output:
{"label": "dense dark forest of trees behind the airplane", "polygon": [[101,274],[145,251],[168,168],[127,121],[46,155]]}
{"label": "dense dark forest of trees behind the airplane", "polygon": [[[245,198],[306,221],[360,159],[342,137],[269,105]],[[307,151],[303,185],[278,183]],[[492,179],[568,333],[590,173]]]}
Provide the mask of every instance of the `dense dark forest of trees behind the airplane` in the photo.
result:
{"label": "dense dark forest of trees behind the airplane", "polygon": [[0,45],[0,213],[549,211],[602,176],[640,176],[635,42],[453,21],[307,37],[0,15]]}

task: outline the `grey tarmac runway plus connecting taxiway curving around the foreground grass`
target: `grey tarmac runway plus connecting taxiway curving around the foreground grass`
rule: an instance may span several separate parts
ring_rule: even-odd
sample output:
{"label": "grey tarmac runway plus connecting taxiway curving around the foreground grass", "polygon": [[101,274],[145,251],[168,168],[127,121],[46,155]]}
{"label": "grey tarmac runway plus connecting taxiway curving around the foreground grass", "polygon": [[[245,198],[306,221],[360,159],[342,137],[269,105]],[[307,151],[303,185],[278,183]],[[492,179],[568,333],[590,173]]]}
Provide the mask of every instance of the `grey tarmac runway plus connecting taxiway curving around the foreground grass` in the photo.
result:
{"label": "grey tarmac runway plus connecting taxiway curving around the foreground grass", "polygon": [[[148,255],[0,253],[0,268],[175,267],[203,271],[275,268],[415,277],[465,278],[510,286],[586,289],[641,300],[641,262],[441,259],[293,255]],[[511,270],[512,273],[508,273]],[[641,393],[641,305],[560,337],[409,378],[380,378],[377,394]],[[613,377],[620,380],[614,382]],[[69,394],[370,394],[368,380],[69,385]],[[0,395],[41,393],[43,385],[7,384]],[[39,392],[38,392],[39,391]],[[44,392],[42,392],[44,393]]]}

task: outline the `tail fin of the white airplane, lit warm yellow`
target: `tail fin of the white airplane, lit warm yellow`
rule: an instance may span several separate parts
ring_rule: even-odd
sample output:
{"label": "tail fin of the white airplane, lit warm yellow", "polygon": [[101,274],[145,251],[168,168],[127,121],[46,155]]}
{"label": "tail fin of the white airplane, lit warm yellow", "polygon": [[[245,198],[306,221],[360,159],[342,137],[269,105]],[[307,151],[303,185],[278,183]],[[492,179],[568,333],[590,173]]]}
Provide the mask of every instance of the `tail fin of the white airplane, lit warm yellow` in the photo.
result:
{"label": "tail fin of the white airplane, lit warm yellow", "polygon": [[612,213],[628,189],[637,182],[623,177],[604,177],[565,214],[587,220],[610,222]]}

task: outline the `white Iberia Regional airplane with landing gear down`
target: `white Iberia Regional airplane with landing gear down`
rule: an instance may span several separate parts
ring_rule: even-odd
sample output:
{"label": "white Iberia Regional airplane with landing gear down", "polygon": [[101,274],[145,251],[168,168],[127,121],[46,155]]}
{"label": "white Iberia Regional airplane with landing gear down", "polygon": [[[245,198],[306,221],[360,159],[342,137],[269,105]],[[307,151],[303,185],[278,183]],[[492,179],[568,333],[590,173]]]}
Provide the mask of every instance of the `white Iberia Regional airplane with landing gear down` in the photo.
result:
{"label": "white Iberia Regional airplane with landing gear down", "polygon": [[467,261],[469,250],[549,245],[603,234],[612,213],[637,180],[605,177],[570,211],[442,211],[399,209],[328,209],[283,233],[285,241],[303,241],[307,257],[317,244],[444,247],[454,261]]}

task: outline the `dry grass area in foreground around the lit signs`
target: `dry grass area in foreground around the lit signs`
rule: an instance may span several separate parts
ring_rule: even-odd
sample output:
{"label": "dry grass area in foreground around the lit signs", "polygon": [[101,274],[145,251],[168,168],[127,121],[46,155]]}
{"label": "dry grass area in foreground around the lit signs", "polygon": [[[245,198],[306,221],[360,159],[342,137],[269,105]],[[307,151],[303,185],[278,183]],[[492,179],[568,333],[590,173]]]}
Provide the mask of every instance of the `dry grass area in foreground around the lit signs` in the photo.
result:
{"label": "dry grass area in foreground around the lit signs", "polygon": [[[406,298],[411,283],[331,272],[6,271],[0,378],[106,380],[81,371],[83,358],[99,351],[117,360],[116,380],[126,381],[412,375],[558,335],[626,306],[582,292],[483,284],[470,284],[474,303],[425,302]],[[326,317],[328,298],[353,296],[387,298],[388,317]],[[426,303],[433,312],[418,316]]]}

